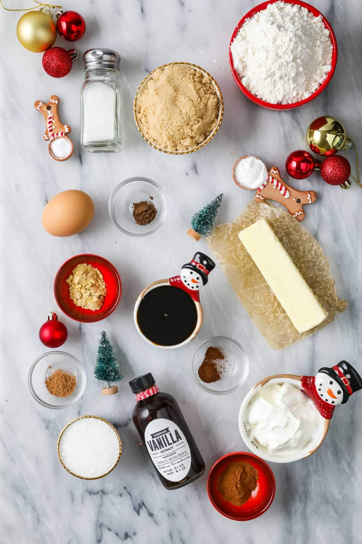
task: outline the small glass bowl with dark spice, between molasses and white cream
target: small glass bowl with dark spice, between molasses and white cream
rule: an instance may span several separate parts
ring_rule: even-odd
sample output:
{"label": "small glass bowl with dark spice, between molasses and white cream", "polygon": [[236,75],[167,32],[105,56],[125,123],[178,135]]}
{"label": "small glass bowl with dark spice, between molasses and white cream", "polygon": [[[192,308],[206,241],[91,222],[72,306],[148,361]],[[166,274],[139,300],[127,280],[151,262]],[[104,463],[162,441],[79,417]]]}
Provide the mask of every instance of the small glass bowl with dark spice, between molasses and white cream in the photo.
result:
{"label": "small glass bowl with dark spice, between molasses and white cream", "polygon": [[249,374],[249,358],[235,340],[214,336],[195,349],[190,360],[192,377],[208,393],[226,395],[236,391]]}

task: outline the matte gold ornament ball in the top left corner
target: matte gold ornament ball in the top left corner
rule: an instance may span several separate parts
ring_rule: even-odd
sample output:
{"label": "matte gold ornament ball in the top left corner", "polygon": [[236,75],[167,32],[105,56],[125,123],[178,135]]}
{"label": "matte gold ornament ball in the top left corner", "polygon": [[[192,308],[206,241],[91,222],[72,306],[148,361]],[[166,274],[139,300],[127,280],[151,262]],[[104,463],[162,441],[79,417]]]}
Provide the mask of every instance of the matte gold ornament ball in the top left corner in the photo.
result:
{"label": "matte gold ornament ball in the top left corner", "polygon": [[33,53],[43,53],[55,42],[56,27],[42,11],[28,11],[17,23],[16,34],[21,45]]}

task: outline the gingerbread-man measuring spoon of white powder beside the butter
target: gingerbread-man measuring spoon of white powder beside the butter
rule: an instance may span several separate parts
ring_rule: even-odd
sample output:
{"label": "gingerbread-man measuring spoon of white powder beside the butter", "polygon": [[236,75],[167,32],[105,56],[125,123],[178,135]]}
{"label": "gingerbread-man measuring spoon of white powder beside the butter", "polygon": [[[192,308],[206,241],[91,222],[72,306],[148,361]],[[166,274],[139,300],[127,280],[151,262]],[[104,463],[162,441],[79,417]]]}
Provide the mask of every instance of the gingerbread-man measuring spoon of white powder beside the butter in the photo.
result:
{"label": "gingerbread-man measuring spoon of white powder beside the butter", "polygon": [[[242,161],[245,168],[240,168]],[[244,155],[236,160],[232,167],[232,177],[241,189],[256,189],[257,202],[264,202],[265,199],[276,200],[285,206],[297,221],[303,221],[306,217],[303,205],[312,204],[317,198],[314,191],[298,191],[287,185],[282,180],[277,166],[272,166],[268,172],[262,160],[253,155]]]}

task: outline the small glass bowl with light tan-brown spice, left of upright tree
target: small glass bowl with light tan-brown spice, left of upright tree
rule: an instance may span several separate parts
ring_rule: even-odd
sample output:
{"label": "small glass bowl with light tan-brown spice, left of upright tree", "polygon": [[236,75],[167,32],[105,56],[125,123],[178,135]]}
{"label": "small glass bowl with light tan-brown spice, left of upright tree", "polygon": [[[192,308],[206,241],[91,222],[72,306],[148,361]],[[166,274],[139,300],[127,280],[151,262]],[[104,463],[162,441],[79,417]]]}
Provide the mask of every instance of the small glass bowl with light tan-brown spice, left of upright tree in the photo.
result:
{"label": "small glass bowl with light tan-brown spice, left of upright tree", "polygon": [[33,398],[42,406],[61,410],[76,403],[86,386],[82,363],[66,351],[47,351],[29,369],[28,385]]}

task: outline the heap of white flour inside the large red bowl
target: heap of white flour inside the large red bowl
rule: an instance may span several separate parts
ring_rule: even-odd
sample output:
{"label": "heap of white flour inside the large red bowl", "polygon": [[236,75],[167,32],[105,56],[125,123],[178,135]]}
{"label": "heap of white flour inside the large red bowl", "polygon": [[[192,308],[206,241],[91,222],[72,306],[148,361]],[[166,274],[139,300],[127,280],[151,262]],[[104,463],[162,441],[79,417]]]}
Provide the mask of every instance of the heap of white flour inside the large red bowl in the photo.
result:
{"label": "heap of white flour inside the large red bowl", "polygon": [[231,44],[243,85],[272,104],[308,98],[331,70],[332,42],[321,16],[275,2],[245,20]]}

